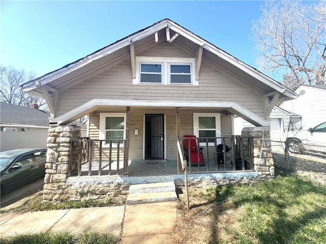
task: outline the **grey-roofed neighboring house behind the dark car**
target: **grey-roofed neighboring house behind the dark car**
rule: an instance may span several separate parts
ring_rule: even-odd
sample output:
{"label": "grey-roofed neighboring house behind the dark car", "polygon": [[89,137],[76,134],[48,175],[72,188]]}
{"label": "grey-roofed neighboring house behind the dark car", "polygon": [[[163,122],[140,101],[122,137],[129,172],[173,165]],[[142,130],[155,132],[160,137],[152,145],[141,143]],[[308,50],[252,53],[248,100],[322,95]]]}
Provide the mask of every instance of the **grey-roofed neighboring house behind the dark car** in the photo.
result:
{"label": "grey-roofed neighboring house behind the dark car", "polygon": [[[37,104],[22,107],[0,103],[0,151],[19,148],[46,148],[50,112]],[[77,123],[75,121],[75,123]],[[82,133],[86,136],[86,126]]]}

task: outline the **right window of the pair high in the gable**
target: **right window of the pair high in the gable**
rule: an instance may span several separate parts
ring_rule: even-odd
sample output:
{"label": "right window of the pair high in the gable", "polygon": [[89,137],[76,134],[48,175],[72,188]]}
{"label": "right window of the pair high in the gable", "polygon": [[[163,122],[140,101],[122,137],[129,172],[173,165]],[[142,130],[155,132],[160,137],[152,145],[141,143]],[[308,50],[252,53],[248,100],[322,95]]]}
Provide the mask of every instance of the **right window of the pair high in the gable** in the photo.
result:
{"label": "right window of the pair high in the gable", "polygon": [[170,83],[191,84],[191,65],[170,64]]}

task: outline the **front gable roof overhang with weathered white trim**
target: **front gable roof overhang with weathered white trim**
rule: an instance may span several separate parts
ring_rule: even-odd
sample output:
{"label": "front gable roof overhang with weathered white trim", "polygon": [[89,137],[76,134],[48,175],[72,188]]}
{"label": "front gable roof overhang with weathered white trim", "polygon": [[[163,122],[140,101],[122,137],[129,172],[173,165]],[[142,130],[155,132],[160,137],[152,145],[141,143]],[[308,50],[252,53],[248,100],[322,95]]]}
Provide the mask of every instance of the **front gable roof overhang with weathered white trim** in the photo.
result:
{"label": "front gable roof overhang with weathered white trim", "polygon": [[130,58],[130,44],[134,44],[135,52],[137,54],[155,46],[160,43],[161,40],[167,40],[165,37],[168,36],[168,30],[169,35],[171,35],[172,38],[176,37],[173,42],[171,41],[173,45],[177,45],[179,48],[194,55],[197,50],[202,47],[202,56],[205,58],[206,62],[217,65],[226,72],[236,75],[240,79],[263,90],[266,94],[277,91],[281,94],[280,99],[289,100],[295,98],[295,93],[283,86],[281,83],[269,78],[253,67],[244,64],[239,59],[200,38],[170,19],[163,19],[118,40],[115,43],[80,58],[73,63],[65,65],[58,70],[47,73],[35,80],[26,82],[21,85],[23,91],[35,96],[39,95],[39,97],[43,97],[42,88],[40,87],[44,85],[46,85],[48,89],[56,89],[53,90],[54,92],[57,90],[60,91],[67,87],[67,83],[69,82],[85,80],[89,78],[89,75],[94,75],[94,72],[100,72],[101,70],[107,69],[107,67],[110,66],[109,64],[118,64],[119,62]]}

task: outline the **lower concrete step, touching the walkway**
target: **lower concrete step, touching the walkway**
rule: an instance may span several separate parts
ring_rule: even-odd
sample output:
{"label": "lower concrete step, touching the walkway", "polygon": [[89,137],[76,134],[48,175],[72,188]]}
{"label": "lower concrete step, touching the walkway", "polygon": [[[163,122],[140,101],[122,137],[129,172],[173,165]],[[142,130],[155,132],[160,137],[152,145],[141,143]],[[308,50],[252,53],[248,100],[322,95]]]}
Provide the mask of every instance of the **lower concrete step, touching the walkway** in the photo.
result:
{"label": "lower concrete step, touching the walkway", "polygon": [[176,192],[155,192],[155,193],[137,193],[129,194],[126,203],[141,204],[153,202],[169,202],[178,199]]}

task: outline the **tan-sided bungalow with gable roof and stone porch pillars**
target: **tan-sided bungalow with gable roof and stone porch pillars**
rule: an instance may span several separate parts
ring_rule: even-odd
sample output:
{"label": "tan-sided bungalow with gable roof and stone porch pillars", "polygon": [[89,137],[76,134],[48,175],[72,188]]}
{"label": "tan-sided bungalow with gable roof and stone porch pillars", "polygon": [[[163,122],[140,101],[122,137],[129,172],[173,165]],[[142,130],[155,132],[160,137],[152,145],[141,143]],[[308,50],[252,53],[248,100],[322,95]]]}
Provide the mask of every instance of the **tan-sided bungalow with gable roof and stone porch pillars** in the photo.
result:
{"label": "tan-sided bungalow with gable roof and stone porch pillars", "polygon": [[[209,149],[210,157],[216,152],[215,140],[219,144],[227,138],[230,143],[233,115],[269,130],[269,114],[274,105],[295,98],[295,93],[282,84],[169,19],[21,86],[25,93],[46,99],[52,114],[50,130],[53,132],[69,131],[65,125],[88,115],[89,138],[94,140],[90,141],[94,159],[98,159],[100,154],[103,160],[112,160],[109,165],[118,161],[119,167],[119,160],[123,157],[120,166],[123,165],[123,174],[129,175],[123,178],[124,182],[134,179],[131,177],[135,175],[132,165],[143,160],[161,160],[163,165],[173,161],[173,176],[182,179],[182,174],[178,174],[182,168],[180,162],[177,163],[176,135],[180,139],[184,135],[205,138],[200,146]],[[262,133],[264,131],[262,129]],[[250,131],[247,133],[251,136]],[[58,135],[51,136],[51,141],[58,141]],[[208,142],[205,142],[206,138]],[[268,146],[268,133],[265,139],[264,145]],[[257,145],[254,141],[254,147]],[[55,154],[59,145],[52,143],[49,146],[51,162],[48,162],[48,167],[51,167],[50,163],[58,163],[59,158],[68,160]],[[261,178],[274,177],[273,159],[270,159],[270,154],[266,155],[269,159],[266,158],[265,163],[260,159],[255,167],[252,164],[250,175],[244,178],[242,175],[239,180],[260,178],[259,175],[265,175]],[[46,184],[52,184],[51,179],[55,178],[57,182],[76,180],[76,177],[68,177],[69,181],[66,181],[67,175],[77,172],[71,169],[74,164],[71,156],[69,162],[67,171],[46,171]],[[219,172],[215,167],[207,169],[211,170],[216,174],[209,177],[227,177],[225,174],[216,176]],[[258,175],[256,171],[260,170],[264,172]],[[88,172],[90,175],[91,169]],[[224,169],[222,172],[229,171]],[[160,180],[151,177],[153,175],[157,175],[154,170],[143,180]],[[231,175],[232,180],[239,176]],[[194,177],[201,176],[194,174]]]}

